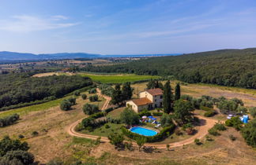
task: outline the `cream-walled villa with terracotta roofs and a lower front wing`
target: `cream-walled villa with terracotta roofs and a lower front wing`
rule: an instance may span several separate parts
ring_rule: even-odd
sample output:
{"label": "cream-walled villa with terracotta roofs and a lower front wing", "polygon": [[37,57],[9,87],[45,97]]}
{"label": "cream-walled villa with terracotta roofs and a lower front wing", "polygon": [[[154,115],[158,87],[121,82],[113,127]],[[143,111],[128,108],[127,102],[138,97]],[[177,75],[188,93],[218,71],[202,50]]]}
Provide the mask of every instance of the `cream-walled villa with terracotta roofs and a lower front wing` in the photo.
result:
{"label": "cream-walled villa with terracotta roofs and a lower front wing", "polygon": [[135,112],[143,109],[160,108],[163,105],[163,90],[160,88],[145,90],[140,92],[140,98],[126,102],[126,107],[131,107]]}

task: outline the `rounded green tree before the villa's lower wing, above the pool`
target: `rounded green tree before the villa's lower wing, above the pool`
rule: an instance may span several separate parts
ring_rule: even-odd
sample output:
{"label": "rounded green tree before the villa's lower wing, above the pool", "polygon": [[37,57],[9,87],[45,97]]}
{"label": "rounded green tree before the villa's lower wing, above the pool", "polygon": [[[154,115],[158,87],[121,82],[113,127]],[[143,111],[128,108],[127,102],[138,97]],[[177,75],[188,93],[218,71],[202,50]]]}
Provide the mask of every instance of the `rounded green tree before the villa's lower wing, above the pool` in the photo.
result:
{"label": "rounded green tree before the villa's lower wing, above the pool", "polygon": [[132,126],[139,123],[140,116],[138,116],[137,113],[134,112],[134,110],[130,108],[125,108],[120,114],[120,119],[122,123],[125,123],[128,126]]}

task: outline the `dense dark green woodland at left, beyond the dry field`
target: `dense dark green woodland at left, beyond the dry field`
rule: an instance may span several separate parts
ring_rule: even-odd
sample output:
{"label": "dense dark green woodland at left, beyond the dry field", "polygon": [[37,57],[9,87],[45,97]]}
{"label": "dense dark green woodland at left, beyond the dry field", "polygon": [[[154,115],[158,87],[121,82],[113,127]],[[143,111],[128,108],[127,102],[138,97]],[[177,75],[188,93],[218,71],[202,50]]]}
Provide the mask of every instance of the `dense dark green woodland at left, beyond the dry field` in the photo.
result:
{"label": "dense dark green woodland at left, beyond the dry field", "polygon": [[62,97],[90,85],[91,79],[79,75],[40,78],[31,77],[27,73],[0,75],[0,108],[49,97]]}

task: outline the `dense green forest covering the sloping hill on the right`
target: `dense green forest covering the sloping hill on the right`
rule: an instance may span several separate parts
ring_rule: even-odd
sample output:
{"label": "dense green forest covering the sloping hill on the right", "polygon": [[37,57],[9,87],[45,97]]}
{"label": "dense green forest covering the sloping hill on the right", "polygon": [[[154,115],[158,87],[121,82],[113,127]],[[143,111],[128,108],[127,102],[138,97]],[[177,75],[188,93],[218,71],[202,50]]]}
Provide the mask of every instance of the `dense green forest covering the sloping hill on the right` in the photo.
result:
{"label": "dense green forest covering the sloping hill on the right", "polygon": [[152,57],[126,64],[88,66],[87,72],[174,75],[186,83],[212,83],[256,89],[256,48],[222,49],[175,57]]}

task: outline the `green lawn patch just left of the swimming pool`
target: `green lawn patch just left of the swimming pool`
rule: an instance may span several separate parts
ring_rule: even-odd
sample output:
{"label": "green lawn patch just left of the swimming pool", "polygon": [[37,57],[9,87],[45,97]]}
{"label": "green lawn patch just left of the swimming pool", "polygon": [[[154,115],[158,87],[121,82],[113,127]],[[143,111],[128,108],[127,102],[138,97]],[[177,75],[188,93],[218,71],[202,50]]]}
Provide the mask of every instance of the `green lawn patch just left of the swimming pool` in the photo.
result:
{"label": "green lawn patch just left of the swimming pool", "polygon": [[[109,128],[106,128],[106,125],[108,125]],[[88,130],[82,130],[81,132],[84,134],[92,134],[92,135],[97,135],[101,137],[107,137],[112,133],[122,134],[122,131],[120,129],[121,127],[122,127],[122,124],[106,123],[102,127],[96,128],[92,132],[89,132]]]}

